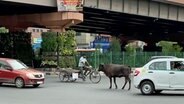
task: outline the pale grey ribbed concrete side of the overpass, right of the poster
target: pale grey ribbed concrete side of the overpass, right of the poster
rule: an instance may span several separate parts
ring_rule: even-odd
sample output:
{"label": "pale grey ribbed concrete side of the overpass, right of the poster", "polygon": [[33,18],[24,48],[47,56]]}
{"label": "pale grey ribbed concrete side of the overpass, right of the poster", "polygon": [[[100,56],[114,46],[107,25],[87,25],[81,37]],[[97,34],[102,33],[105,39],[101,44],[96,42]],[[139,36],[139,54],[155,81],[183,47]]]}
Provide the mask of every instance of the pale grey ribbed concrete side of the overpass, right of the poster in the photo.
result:
{"label": "pale grey ribbed concrete side of the overpass, right of the poster", "polygon": [[152,0],[85,0],[85,6],[154,18],[184,21],[184,7]]}

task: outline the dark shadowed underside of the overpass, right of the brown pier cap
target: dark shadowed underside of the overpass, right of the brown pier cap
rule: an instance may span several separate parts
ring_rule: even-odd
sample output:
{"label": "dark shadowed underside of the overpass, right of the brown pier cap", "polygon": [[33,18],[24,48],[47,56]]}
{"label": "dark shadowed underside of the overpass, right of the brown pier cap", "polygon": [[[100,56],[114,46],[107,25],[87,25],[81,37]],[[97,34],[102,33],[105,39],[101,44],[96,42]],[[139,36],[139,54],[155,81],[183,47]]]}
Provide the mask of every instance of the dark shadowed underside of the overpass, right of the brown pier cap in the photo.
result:
{"label": "dark shadowed underside of the overpass, right of the brown pier cap", "polygon": [[83,13],[84,22],[71,27],[72,29],[88,33],[123,34],[142,41],[153,38],[155,41],[183,41],[183,22],[88,7],[84,7]]}

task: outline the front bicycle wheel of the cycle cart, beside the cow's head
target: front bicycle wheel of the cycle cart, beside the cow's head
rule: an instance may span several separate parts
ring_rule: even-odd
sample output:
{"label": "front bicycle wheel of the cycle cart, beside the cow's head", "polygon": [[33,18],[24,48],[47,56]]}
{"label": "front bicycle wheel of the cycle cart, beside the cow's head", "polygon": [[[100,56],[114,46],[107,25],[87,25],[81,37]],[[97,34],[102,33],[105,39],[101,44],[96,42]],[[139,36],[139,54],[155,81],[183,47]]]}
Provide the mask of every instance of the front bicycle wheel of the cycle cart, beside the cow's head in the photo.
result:
{"label": "front bicycle wheel of the cycle cart, beside the cow's head", "polygon": [[89,79],[92,83],[99,83],[101,80],[101,75],[98,71],[92,71],[89,75]]}

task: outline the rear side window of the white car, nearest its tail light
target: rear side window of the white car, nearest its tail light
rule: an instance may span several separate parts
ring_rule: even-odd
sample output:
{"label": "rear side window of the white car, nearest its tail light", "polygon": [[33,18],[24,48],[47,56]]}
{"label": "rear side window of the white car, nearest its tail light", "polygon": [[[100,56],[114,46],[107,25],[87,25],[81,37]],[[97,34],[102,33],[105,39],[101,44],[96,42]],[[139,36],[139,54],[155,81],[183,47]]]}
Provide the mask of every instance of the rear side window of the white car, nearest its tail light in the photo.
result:
{"label": "rear side window of the white car, nearest its tail light", "polygon": [[152,63],[149,66],[149,70],[167,70],[166,61]]}

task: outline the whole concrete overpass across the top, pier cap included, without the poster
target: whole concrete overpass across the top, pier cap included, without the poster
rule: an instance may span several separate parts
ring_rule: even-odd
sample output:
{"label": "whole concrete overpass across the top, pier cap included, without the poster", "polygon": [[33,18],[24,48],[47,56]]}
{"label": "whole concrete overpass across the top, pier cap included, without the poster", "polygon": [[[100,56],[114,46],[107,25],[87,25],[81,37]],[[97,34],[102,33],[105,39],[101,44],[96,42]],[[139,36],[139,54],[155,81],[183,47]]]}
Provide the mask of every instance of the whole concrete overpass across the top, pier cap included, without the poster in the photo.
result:
{"label": "whole concrete overpass across the top, pier cap included, without the poster", "polygon": [[56,0],[33,1],[0,1],[0,24],[12,30],[42,25],[57,31],[111,34],[119,36],[123,46],[129,40],[151,47],[160,40],[184,44],[182,0],[85,0],[82,13],[57,12]]}

